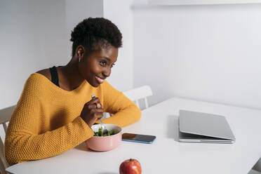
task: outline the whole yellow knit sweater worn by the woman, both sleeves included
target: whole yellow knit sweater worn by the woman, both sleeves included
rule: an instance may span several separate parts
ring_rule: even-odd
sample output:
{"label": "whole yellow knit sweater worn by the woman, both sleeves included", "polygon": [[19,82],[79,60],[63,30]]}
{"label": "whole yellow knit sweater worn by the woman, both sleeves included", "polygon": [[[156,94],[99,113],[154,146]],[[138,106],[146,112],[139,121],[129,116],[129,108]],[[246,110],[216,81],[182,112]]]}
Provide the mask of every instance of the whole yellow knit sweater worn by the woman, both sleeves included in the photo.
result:
{"label": "whole yellow knit sweater worn by the woman, both sleeves included", "polygon": [[8,163],[62,154],[91,138],[93,131],[79,116],[91,95],[100,98],[105,112],[114,114],[103,123],[127,126],[140,119],[140,109],[134,102],[107,81],[98,88],[83,81],[73,91],[65,91],[34,73],[27,79],[8,125],[5,140]]}

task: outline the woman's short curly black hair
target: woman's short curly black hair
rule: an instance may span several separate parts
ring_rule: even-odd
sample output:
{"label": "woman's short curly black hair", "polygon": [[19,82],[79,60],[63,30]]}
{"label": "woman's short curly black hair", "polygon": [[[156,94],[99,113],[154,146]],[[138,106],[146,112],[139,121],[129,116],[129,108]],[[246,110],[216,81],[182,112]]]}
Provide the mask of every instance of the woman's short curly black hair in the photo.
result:
{"label": "woman's short curly black hair", "polygon": [[71,34],[70,41],[72,44],[72,57],[79,45],[84,46],[87,54],[97,49],[114,46],[120,48],[122,46],[122,35],[118,27],[110,20],[105,18],[87,18],[79,22]]}

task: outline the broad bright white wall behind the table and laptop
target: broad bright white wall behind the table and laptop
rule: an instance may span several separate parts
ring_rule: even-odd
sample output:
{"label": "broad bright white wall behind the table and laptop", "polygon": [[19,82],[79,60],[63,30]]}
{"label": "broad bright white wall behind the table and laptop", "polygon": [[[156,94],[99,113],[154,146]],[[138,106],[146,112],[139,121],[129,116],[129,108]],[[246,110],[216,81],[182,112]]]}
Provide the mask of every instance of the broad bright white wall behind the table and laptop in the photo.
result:
{"label": "broad bright white wall behind the table and laptop", "polygon": [[134,86],[261,109],[261,5],[134,6]]}

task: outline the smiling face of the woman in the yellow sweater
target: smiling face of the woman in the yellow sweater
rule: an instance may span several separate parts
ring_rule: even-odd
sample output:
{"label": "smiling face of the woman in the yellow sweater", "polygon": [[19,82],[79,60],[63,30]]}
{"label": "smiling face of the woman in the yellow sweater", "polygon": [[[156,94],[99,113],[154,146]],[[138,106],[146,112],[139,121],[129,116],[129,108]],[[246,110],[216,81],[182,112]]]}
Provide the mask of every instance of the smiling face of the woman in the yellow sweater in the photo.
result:
{"label": "smiling face of the woman in the yellow sweater", "polygon": [[90,55],[84,53],[79,62],[79,73],[93,87],[98,87],[111,74],[118,57],[118,48],[107,46]]}

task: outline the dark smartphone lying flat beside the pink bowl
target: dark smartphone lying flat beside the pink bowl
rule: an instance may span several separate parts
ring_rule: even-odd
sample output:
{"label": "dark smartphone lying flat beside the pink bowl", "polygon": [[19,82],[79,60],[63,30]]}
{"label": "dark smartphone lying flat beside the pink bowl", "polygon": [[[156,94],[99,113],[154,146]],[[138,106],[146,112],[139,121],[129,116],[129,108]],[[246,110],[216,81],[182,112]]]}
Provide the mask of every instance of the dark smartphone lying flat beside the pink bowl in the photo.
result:
{"label": "dark smartphone lying flat beside the pink bowl", "polygon": [[156,136],[154,135],[140,135],[135,133],[123,133],[122,140],[128,142],[140,142],[150,144],[155,140]]}

